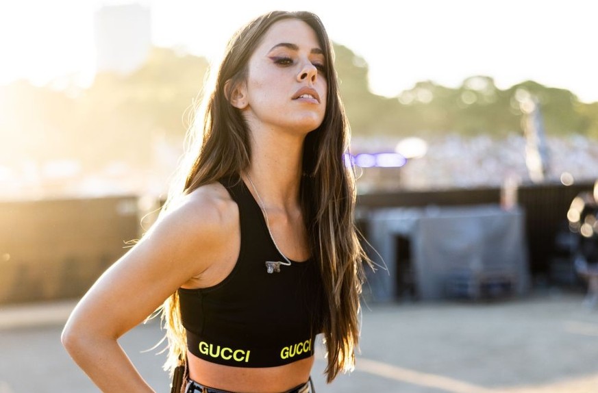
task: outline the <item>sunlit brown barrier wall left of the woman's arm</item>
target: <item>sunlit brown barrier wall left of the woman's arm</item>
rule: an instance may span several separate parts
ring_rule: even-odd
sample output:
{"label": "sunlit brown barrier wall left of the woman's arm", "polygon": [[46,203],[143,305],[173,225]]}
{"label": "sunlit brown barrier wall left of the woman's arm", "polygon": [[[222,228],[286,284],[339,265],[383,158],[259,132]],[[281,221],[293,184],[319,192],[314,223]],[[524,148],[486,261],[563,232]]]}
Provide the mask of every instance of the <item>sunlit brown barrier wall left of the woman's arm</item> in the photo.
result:
{"label": "sunlit brown barrier wall left of the woman's arm", "polygon": [[0,303],[81,296],[138,238],[137,197],[0,203]]}

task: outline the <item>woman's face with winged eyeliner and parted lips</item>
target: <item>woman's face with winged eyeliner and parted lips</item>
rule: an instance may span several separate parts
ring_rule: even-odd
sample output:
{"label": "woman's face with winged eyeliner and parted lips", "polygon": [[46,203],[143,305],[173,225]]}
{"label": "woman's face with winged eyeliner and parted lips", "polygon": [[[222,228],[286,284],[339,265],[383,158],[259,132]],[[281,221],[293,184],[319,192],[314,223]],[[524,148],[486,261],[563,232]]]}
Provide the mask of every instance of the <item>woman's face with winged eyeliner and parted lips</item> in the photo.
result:
{"label": "woman's face with winged eyeliner and parted lips", "polygon": [[[325,54],[314,30],[297,19],[274,23],[249,59],[239,107],[252,131],[305,135],[326,110]],[[244,89],[244,90],[243,90]]]}

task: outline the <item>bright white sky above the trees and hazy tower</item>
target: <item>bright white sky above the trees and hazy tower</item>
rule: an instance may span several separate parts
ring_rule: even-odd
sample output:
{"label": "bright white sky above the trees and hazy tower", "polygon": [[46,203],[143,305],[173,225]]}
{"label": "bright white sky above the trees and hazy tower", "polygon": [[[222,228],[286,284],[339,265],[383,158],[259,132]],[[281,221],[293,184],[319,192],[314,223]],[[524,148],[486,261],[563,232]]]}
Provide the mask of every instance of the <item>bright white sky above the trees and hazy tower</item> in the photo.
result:
{"label": "bright white sky above the trees and hazy tower", "polygon": [[[0,0],[0,84],[34,84],[95,69],[93,15],[104,0]],[[593,0],[141,0],[152,42],[213,58],[233,31],[270,10],[310,10],[330,38],[369,65],[376,94],[417,81],[458,87],[487,75],[499,88],[532,79],[598,101],[598,2]]]}

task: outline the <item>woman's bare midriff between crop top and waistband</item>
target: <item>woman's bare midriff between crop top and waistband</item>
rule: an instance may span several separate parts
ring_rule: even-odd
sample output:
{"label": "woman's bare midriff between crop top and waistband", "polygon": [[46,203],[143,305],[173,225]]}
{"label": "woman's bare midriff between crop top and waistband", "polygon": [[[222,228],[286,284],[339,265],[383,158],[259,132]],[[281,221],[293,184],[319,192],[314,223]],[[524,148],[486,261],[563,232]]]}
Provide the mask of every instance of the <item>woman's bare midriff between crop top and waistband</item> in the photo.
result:
{"label": "woman's bare midriff between crop top and waistband", "polygon": [[314,357],[291,364],[264,368],[223,366],[187,353],[189,377],[197,383],[236,393],[279,393],[295,388],[310,378]]}

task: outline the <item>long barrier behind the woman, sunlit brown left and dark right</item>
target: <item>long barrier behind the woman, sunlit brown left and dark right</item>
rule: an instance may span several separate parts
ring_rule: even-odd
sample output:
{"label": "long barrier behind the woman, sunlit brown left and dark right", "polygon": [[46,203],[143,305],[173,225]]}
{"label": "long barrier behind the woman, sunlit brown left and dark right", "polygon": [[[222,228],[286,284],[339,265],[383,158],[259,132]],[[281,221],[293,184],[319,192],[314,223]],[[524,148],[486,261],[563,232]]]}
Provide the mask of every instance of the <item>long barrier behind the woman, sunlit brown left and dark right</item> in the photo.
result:
{"label": "long barrier behind the woman, sunlit brown left and dark right", "polygon": [[[556,236],[566,212],[593,184],[521,186],[530,273],[550,278]],[[358,197],[358,217],[382,207],[484,205],[501,202],[499,188],[386,192]],[[0,203],[0,303],[81,296],[140,235],[135,196]],[[366,220],[358,224],[367,238]],[[401,255],[397,255],[401,257]]]}

